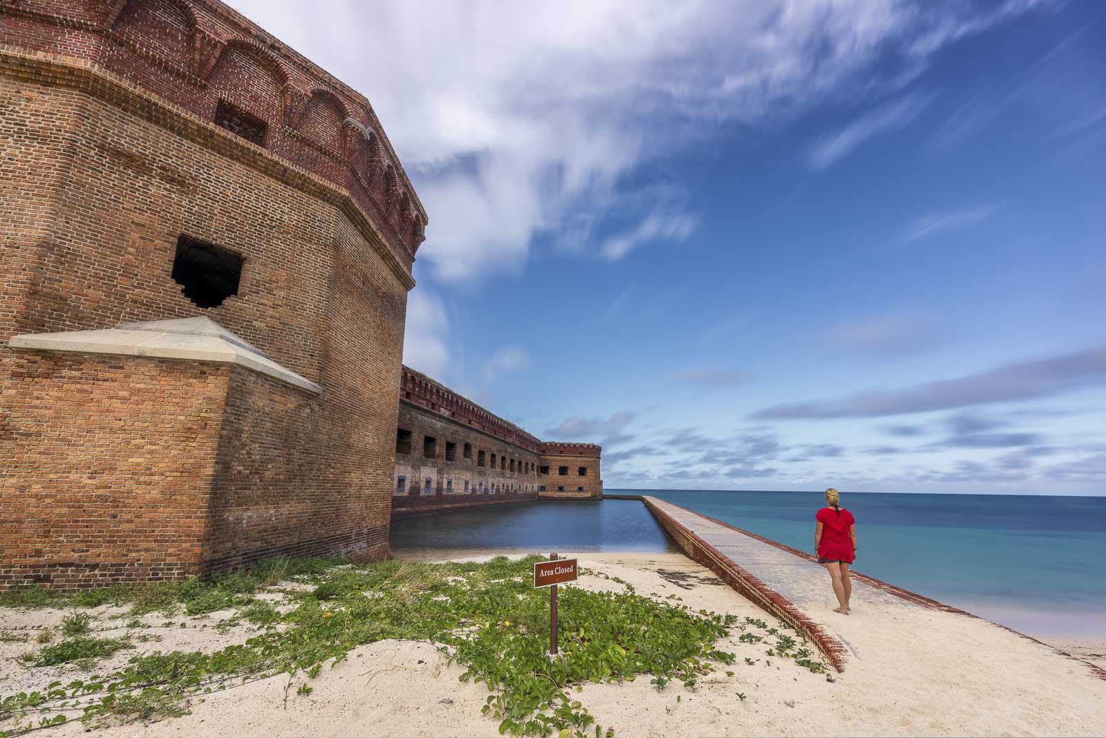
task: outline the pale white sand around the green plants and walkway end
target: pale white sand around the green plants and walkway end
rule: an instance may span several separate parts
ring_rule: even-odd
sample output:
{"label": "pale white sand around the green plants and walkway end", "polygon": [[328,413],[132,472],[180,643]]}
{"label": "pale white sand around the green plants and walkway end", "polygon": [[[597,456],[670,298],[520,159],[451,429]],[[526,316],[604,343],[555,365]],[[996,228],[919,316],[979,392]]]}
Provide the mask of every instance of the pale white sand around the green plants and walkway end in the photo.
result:
{"label": "pale white sand around the green plants and walkway end", "polygon": [[[692,607],[779,625],[680,554],[581,554],[580,559],[582,567],[633,583],[639,594],[677,594]],[[598,578],[582,578],[578,585],[622,588]],[[835,626],[854,655],[834,683],[790,661],[768,658],[765,643],[744,644],[734,637],[721,647],[735,653],[737,663],[720,666],[695,692],[674,683],[658,693],[648,679],[638,678],[587,685],[576,697],[604,727],[627,737],[1106,734],[1106,682],[1086,665],[984,621],[920,607],[896,611],[891,617],[876,607],[865,611],[864,602],[854,606],[855,614],[839,616]],[[2,613],[6,620],[10,612]],[[41,611],[32,616],[38,615]],[[187,631],[206,640],[212,637],[209,630]],[[168,640],[158,645],[191,647],[177,641],[182,633],[174,633],[171,645]],[[215,640],[223,637],[240,635]],[[2,645],[2,653],[12,653],[7,648],[11,644]],[[18,645],[14,653],[29,647]],[[219,645],[223,644],[196,647]],[[747,665],[745,657],[754,664]],[[734,676],[728,677],[727,668]],[[17,672],[25,674],[22,667]],[[459,682],[461,672],[429,644],[385,641],[355,649],[333,669],[324,667],[310,680],[310,695],[295,694],[301,677],[289,689],[286,676],[273,677],[209,695],[195,701],[192,714],[182,718],[127,726],[125,732],[497,736],[498,721],[480,715],[487,688]],[[11,686],[11,679],[0,683],[0,693],[12,692]],[[747,695],[744,701],[738,692]],[[77,734],[106,737],[119,731],[84,734],[74,723],[53,735]]]}

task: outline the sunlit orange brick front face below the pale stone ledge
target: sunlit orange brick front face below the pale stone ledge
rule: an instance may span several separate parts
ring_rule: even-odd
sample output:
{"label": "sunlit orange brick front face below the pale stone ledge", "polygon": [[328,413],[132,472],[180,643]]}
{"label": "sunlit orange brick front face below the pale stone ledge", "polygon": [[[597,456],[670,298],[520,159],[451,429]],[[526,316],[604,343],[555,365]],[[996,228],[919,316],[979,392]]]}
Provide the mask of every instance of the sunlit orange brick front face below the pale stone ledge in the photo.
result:
{"label": "sunlit orange brick front face below the pale stone ledge", "polygon": [[229,370],[0,356],[0,589],[200,571]]}

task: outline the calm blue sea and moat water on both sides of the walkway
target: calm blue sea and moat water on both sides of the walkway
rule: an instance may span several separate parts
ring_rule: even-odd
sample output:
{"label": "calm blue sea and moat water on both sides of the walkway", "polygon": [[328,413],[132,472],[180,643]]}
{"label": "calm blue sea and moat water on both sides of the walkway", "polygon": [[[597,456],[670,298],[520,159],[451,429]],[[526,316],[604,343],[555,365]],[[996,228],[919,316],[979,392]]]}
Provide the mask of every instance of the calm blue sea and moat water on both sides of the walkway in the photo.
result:
{"label": "calm blue sea and moat water on both sides of the walkway", "polygon": [[[606,490],[645,493],[803,551],[821,492]],[[1106,498],[843,495],[857,520],[856,569],[1016,630],[1106,637]],[[413,518],[395,548],[665,551],[634,501],[538,502]]]}

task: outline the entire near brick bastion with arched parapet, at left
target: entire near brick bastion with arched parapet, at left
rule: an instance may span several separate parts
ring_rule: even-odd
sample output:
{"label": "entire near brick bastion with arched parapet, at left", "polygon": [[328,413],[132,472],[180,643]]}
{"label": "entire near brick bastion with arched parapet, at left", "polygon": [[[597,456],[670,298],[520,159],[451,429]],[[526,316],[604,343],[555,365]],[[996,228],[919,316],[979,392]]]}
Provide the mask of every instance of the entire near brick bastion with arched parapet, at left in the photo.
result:
{"label": "entire near brick bastion with arched parapet, at left", "polygon": [[[426,216],[368,103],[208,0],[8,0],[0,44],[0,589],[388,555]],[[182,238],[237,293],[184,294]],[[322,392],[7,345],[200,315]]]}

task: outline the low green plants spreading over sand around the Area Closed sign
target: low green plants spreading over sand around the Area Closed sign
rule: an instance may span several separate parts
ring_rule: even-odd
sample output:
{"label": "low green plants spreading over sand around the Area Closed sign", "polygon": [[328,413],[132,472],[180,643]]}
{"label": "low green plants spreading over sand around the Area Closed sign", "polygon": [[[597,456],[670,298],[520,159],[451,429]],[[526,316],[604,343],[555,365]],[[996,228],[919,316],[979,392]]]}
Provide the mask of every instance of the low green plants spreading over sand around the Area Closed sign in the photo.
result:
{"label": "low green plants spreading over sand around the Area Closed sign", "polygon": [[[178,716],[187,711],[191,698],[282,673],[289,675],[286,694],[294,699],[294,695],[312,692],[307,682],[325,664],[333,667],[356,646],[384,638],[434,644],[466,666],[462,679],[488,686],[483,711],[500,720],[501,734],[602,738],[614,731],[596,725],[587,708],[572,698],[573,690],[589,682],[634,680],[638,676],[649,678],[658,690],[672,679],[695,689],[714,664],[734,662],[733,654],[714,646],[717,641],[731,628],[766,627],[763,621],[745,619],[738,625],[732,615],[696,612],[678,602],[656,602],[638,595],[629,583],[609,578],[624,591],[562,590],[561,656],[551,659],[549,592],[534,590],[530,581],[533,563],[540,560],[500,557],[487,563],[383,561],[353,565],[334,560],[276,559],[209,581],[81,593],[70,599],[73,605],[131,603],[133,615],[171,613],[180,607],[189,614],[234,609],[233,617],[225,623],[244,620],[254,624],[257,632],[246,643],[212,654],[157,652],[135,656],[119,671],[92,676],[87,682],[56,682],[42,693],[4,696],[0,698],[0,738],[49,728],[73,713],[93,725]],[[260,588],[290,578],[312,586],[285,590],[285,601],[293,607],[283,614],[253,596]],[[22,606],[35,606],[29,603],[36,602],[56,605],[63,600],[41,593],[19,597]],[[129,625],[136,623],[140,621],[132,619]],[[165,626],[176,623],[169,621]],[[87,614],[71,614],[62,625],[66,640],[30,654],[30,663],[88,663],[131,647],[126,638],[93,637],[91,627]],[[802,658],[810,665],[799,663],[812,672],[824,668],[806,658],[808,651],[789,653],[799,645],[794,638],[774,635],[781,656]],[[758,641],[761,637],[755,636]]]}

